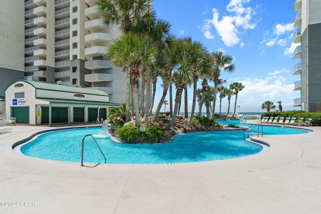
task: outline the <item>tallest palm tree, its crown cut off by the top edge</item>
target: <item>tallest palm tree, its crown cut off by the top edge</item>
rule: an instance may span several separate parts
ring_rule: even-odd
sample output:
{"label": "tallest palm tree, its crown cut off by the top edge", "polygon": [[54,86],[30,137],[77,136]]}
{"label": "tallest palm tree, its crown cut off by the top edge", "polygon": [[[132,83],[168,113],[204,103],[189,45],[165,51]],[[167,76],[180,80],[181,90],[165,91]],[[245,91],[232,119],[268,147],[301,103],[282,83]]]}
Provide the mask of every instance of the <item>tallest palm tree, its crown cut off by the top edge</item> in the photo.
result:
{"label": "tallest palm tree, its crown cut off by the top edge", "polygon": [[[133,22],[141,19],[151,10],[152,0],[97,0],[98,14],[102,17],[105,26],[119,25],[123,34],[128,34]],[[127,66],[121,67],[123,72]],[[127,71],[126,81],[126,121],[129,120],[130,106],[130,79]]]}

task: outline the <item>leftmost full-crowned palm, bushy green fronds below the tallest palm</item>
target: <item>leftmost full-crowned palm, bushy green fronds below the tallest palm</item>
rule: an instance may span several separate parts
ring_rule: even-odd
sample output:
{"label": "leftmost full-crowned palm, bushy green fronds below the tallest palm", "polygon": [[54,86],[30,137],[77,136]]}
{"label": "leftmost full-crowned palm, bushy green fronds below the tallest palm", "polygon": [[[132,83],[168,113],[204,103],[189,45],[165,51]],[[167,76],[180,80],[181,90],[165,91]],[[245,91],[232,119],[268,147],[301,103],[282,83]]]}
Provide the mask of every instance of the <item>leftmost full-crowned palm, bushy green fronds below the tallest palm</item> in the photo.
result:
{"label": "leftmost full-crowned palm, bushy green fronds below the tallest palm", "polygon": [[143,60],[153,60],[156,49],[152,40],[146,35],[132,33],[123,35],[107,46],[105,58],[111,60],[115,67],[128,68],[130,83],[133,88],[135,125],[139,127],[138,79]]}

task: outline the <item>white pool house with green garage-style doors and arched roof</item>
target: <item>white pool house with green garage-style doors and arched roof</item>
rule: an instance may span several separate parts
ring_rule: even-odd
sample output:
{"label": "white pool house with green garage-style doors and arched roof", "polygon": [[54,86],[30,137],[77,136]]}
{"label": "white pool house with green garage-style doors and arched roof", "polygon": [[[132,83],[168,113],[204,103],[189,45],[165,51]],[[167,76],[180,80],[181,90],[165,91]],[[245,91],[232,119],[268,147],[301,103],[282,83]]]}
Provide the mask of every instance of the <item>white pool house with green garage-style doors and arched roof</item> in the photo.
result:
{"label": "white pool house with green garage-style doors and arched roof", "polygon": [[22,124],[101,121],[111,107],[119,104],[110,103],[107,93],[94,89],[27,80],[15,81],[6,89],[7,117],[16,117]]}

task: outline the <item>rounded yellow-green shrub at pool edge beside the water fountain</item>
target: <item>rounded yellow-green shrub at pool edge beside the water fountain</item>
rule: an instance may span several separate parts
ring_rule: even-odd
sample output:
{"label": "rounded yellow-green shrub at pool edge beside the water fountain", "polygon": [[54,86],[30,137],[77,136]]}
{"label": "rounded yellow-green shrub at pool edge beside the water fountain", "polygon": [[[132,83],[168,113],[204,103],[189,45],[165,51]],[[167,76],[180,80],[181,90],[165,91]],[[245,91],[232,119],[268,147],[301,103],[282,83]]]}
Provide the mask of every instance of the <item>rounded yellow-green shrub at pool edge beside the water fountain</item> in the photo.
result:
{"label": "rounded yellow-green shrub at pool edge beside the water fountain", "polygon": [[133,124],[125,125],[116,130],[116,136],[123,142],[133,143],[140,136],[140,130]]}

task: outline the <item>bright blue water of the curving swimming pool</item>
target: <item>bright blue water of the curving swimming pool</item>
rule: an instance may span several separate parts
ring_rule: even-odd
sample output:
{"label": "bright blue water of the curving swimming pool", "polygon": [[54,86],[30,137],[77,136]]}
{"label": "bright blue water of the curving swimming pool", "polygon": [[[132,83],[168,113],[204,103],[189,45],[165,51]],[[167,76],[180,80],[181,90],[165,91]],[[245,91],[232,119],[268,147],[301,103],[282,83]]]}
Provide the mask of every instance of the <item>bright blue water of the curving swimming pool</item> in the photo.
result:
{"label": "bright blue water of the curving swimming pool", "polygon": [[[232,123],[220,121],[220,123]],[[235,123],[238,125],[237,123]],[[243,124],[242,124],[243,125]],[[28,156],[81,161],[81,143],[92,134],[106,156],[106,163],[183,163],[247,156],[262,150],[243,139],[243,131],[213,131],[178,135],[166,144],[122,144],[99,134],[100,128],[76,128],[47,132],[21,147]],[[264,127],[264,134],[299,134],[301,129]],[[103,163],[104,158],[90,137],[85,139],[84,162]]]}

